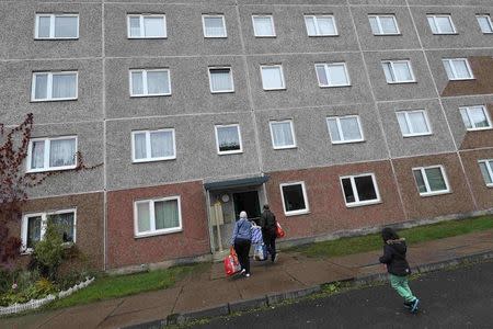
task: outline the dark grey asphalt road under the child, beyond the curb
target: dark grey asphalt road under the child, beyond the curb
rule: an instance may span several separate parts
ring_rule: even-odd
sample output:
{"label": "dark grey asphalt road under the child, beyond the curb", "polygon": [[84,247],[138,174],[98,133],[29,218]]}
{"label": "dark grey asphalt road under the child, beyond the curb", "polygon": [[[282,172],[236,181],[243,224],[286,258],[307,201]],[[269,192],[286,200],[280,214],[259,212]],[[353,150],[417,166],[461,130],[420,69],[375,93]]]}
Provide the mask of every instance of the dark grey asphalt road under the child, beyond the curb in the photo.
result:
{"label": "dark grey asphalt road under the child, beyond the curb", "polygon": [[195,328],[493,328],[493,262],[426,274],[410,286],[422,300],[416,315],[386,284]]}

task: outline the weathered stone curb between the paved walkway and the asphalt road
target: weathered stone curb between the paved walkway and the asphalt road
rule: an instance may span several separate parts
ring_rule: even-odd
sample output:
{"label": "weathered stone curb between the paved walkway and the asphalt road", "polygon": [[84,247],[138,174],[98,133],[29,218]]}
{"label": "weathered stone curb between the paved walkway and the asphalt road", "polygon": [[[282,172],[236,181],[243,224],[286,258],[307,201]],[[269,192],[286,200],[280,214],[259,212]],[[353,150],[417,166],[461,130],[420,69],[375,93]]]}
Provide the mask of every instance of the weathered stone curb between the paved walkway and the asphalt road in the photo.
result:
{"label": "weathered stone curb between the paved walkway and the asphalt road", "polygon": [[[462,256],[445,261],[439,261],[435,263],[422,264],[412,268],[414,273],[428,273],[438,270],[443,270],[448,266],[456,266],[469,262],[484,261],[493,259],[493,251],[483,251],[479,253],[473,253],[469,256]],[[356,276],[349,280],[344,280],[345,282],[353,282],[357,285],[364,285],[371,282],[382,282],[387,280],[387,273],[369,274],[365,276]],[[296,299],[312,295],[322,291],[322,286],[325,284],[333,284],[340,281],[326,282],[323,284],[313,285],[302,290],[287,291],[282,293],[267,294],[263,297],[244,299],[231,302],[228,304],[222,304],[216,307],[198,309],[190,313],[182,314],[171,314],[164,319],[153,320],[149,322],[142,322],[139,325],[123,327],[123,329],[160,329],[165,326],[171,325],[184,325],[192,320],[197,320],[200,318],[214,318],[219,316],[232,315],[238,311],[246,311],[255,308],[278,305],[285,300]]]}

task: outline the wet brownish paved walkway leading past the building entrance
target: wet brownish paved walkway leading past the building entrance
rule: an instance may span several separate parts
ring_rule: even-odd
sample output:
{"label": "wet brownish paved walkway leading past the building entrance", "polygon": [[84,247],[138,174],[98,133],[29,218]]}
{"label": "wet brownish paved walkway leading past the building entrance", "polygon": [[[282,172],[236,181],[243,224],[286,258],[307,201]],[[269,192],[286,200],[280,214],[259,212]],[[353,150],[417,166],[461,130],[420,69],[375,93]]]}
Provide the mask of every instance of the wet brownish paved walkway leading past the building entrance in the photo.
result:
{"label": "wet brownish paved walkway leading past the building entrance", "polygon": [[[493,251],[493,230],[413,245],[411,266]],[[317,284],[383,272],[380,250],[328,259],[280,253],[276,263],[252,262],[251,277],[226,277],[222,263],[194,273],[174,287],[90,305],[0,320],[0,328],[119,328],[165,318],[170,314],[301,290]]]}

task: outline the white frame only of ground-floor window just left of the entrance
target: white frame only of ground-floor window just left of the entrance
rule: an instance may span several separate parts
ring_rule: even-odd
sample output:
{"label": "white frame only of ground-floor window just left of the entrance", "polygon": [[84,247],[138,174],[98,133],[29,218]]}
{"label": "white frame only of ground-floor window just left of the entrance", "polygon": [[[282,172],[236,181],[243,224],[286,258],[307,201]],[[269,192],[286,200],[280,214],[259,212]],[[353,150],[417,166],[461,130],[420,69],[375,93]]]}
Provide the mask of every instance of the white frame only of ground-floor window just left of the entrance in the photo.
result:
{"label": "white frame only of ground-floor window just left of the entrance", "polygon": [[[162,228],[162,229],[156,229],[156,213],[154,213],[154,203],[160,201],[171,201],[176,200],[177,201],[177,211],[179,211],[179,227],[172,227],[172,228]],[[148,203],[149,204],[149,220],[150,220],[150,230],[146,232],[139,232],[139,226],[138,226],[138,209],[137,205],[140,203]],[[173,195],[173,196],[167,196],[167,197],[158,197],[158,198],[146,198],[146,200],[137,200],[134,201],[134,236],[135,238],[145,238],[145,237],[152,237],[152,236],[160,236],[160,235],[168,235],[168,234],[174,234],[179,231],[183,231],[183,219],[182,219],[182,202],[180,195]]]}

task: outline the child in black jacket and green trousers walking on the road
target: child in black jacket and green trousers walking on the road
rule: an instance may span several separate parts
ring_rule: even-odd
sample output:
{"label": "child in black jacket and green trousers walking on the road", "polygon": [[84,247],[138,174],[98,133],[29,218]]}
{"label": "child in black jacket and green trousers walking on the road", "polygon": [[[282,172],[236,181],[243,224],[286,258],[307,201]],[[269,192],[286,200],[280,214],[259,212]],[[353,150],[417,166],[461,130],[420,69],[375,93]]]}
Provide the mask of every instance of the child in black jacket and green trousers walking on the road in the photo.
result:
{"label": "child in black jacket and green trousers walking on the road", "polygon": [[399,238],[398,234],[389,227],[382,229],[381,238],[383,239],[385,245],[383,256],[380,257],[380,263],[387,265],[390,285],[404,298],[404,306],[410,308],[412,313],[416,313],[420,299],[413,295],[408,283],[411,269],[405,259],[408,249],[405,239]]}

